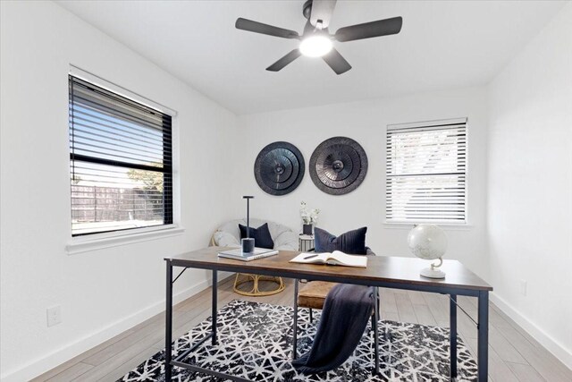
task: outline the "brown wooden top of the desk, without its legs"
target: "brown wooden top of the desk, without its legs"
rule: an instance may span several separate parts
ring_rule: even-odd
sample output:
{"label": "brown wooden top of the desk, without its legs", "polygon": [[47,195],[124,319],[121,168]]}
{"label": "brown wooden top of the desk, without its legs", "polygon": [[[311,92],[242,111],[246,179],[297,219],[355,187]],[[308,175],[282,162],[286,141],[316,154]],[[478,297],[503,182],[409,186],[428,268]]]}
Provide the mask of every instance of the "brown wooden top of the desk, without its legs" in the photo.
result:
{"label": "brown wooden top of the desk, without its legs", "polygon": [[290,263],[300,252],[281,250],[277,255],[252,261],[219,258],[218,252],[228,250],[225,247],[208,247],[193,250],[181,255],[166,257],[176,267],[194,267],[217,269],[240,273],[275,274],[292,278],[327,278],[343,277],[348,282],[358,284],[371,282],[389,282],[396,284],[416,284],[425,286],[450,286],[477,291],[492,291],[492,286],[482,278],[464,267],[457,260],[445,259],[440,269],[446,273],[442,280],[420,276],[419,272],[429,267],[430,261],[417,258],[401,258],[392,256],[370,256],[367,267],[341,267],[324,264]]}

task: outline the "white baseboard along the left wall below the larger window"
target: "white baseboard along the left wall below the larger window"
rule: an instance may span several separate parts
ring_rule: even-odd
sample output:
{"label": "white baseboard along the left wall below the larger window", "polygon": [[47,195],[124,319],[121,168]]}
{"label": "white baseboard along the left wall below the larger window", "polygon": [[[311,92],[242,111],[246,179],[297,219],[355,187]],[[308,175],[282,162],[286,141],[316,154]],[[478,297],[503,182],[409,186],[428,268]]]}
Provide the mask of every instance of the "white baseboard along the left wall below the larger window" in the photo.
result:
{"label": "white baseboard along the left wall below the larger window", "polygon": [[[229,276],[231,276],[231,274],[228,272],[220,272],[219,277],[221,281],[219,281],[219,284]],[[188,299],[190,296],[205,290],[212,283],[212,278],[207,278],[198,282],[197,284],[189,286],[189,288],[186,288],[179,293],[173,294],[173,304],[179,303],[185,299]],[[97,346],[98,344],[104,343],[108,339],[113,338],[115,335],[119,335],[125,330],[138,325],[146,319],[156,316],[162,311],[164,311],[164,300],[158,301],[143,310],[139,310],[127,318],[122,318],[121,320],[114,322],[114,324],[104,327],[93,335],[86,335],[85,337],[80,338],[79,340],[56,350],[55,352],[51,352],[35,361],[30,361],[27,365],[21,367],[20,369],[9,371],[8,373],[2,375],[0,380],[2,380],[2,382],[16,382],[36,378],[44,374],[46,371],[56,368],[63,362],[77,357],[82,352],[87,352],[89,349]]]}

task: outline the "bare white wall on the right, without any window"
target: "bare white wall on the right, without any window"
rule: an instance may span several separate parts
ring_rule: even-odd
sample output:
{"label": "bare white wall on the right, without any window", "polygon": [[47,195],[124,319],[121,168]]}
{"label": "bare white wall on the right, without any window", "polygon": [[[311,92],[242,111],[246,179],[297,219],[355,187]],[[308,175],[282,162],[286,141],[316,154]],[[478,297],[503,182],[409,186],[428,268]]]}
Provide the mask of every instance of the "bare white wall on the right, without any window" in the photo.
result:
{"label": "bare white wall on the right, without any window", "polygon": [[572,368],[572,4],[492,81],[490,105],[495,301]]}

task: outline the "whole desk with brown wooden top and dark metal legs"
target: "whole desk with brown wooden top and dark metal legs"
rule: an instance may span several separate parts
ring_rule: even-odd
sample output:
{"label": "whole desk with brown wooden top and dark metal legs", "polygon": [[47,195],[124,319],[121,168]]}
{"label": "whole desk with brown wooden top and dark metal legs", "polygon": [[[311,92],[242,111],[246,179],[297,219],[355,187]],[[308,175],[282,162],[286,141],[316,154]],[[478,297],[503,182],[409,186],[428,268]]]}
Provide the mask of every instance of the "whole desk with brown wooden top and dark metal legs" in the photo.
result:
{"label": "whole desk with brown wooden top and dark metal legs", "polygon": [[[242,381],[245,379],[229,376],[218,371],[200,368],[184,363],[189,352],[194,351],[209,338],[216,344],[216,311],[217,311],[217,272],[240,272],[267,276],[290,278],[307,278],[312,280],[331,281],[344,284],[361,284],[384,288],[406,289],[443,293],[450,295],[450,376],[457,377],[457,296],[474,296],[478,298],[478,380],[486,381],[488,374],[488,336],[489,336],[489,292],[492,286],[464,267],[457,260],[443,260],[441,269],[447,274],[443,280],[433,280],[419,276],[419,271],[427,267],[427,261],[415,258],[398,258],[376,256],[368,258],[366,268],[335,267],[327,265],[310,265],[290,263],[290,259],[299,254],[296,251],[280,251],[278,255],[244,262],[223,259],[217,253],[222,247],[209,247],[181,255],[164,258],[166,262],[166,319],[165,319],[165,380],[170,381],[172,366],[206,373],[219,378]],[[194,344],[189,351],[183,352],[172,360],[172,271],[173,267],[210,269],[213,271],[213,296],[211,334]]]}

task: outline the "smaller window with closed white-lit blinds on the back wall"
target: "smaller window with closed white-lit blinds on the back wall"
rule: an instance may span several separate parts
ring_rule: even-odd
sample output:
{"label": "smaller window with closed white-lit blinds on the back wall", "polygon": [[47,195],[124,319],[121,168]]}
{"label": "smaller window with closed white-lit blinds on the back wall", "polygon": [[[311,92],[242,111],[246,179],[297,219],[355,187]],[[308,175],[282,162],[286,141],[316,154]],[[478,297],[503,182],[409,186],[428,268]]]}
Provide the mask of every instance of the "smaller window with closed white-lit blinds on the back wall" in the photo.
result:
{"label": "smaller window with closed white-lit blinds on the back wall", "polygon": [[387,126],[388,223],[467,222],[467,118]]}

